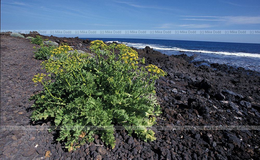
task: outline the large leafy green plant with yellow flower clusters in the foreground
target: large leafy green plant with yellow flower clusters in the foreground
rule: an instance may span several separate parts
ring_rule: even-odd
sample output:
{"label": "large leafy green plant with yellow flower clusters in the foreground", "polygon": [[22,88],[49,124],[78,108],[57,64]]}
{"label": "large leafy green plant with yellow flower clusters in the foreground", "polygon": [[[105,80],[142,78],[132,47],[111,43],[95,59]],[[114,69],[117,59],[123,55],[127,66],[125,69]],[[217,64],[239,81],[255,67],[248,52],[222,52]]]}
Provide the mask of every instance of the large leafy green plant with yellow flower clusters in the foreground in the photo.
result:
{"label": "large leafy green plant with yellow flower clusters in the foreground", "polygon": [[[53,119],[55,126],[62,128],[58,141],[64,141],[69,151],[86,141],[94,140],[94,134],[112,148],[115,147],[113,125],[126,126],[128,134],[133,132],[144,141],[153,141],[150,129],[132,129],[127,126],[150,127],[161,114],[155,96],[155,79],[165,76],[157,66],[141,67],[132,48],[123,44],[105,45],[102,41],[91,42],[90,49],[96,54],[70,51],[67,45],[51,51],[51,58],[42,63],[55,80],[46,80],[44,74],[35,75],[33,81],[44,86],[42,92],[31,97],[33,121]],[[115,54],[119,50],[119,54]],[[70,51],[70,52],[69,52]],[[75,128],[75,126],[110,126],[104,130]],[[51,131],[51,130],[50,130]]]}

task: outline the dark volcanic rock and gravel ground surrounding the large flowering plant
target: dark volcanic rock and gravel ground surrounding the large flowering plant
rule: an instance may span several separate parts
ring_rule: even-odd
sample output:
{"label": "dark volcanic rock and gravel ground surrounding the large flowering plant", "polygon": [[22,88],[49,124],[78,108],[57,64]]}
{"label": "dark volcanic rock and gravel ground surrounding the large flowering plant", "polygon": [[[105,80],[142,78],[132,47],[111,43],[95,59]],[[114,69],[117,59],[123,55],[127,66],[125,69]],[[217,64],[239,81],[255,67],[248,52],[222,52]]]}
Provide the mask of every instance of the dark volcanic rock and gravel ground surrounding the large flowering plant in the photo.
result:
{"label": "dark volcanic rock and gravel ground surrounding the large flowering plant", "polygon": [[[32,36],[32,35],[24,35]],[[42,36],[90,52],[89,40]],[[29,39],[1,35],[1,126],[46,125],[30,121],[30,95],[40,90],[31,78],[41,70]],[[259,125],[260,73],[228,65],[199,65],[185,54],[168,56],[149,47],[136,49],[146,64],[168,73],[156,82],[162,115],[158,125]],[[49,123],[47,123],[49,125]],[[67,152],[47,130],[0,130],[1,159],[258,159],[259,130],[160,130],[156,141],[144,142],[116,131],[114,149],[95,135]],[[35,147],[37,145],[37,147]]]}

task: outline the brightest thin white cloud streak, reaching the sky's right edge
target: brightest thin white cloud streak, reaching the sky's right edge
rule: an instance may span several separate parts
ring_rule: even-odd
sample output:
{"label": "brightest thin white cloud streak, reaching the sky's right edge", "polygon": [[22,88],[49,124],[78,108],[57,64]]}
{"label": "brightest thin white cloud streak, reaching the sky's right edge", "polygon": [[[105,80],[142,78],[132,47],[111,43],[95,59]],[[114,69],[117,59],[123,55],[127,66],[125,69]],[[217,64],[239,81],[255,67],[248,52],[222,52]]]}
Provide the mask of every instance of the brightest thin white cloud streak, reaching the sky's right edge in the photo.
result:
{"label": "brightest thin white cloud streak, reaching the sky's right edge", "polygon": [[[181,16],[181,17],[198,17],[198,18],[185,18],[181,20],[188,21],[223,21],[226,24],[260,24],[260,16]],[[202,19],[200,19],[200,17]],[[208,17],[212,19],[204,19]]]}

